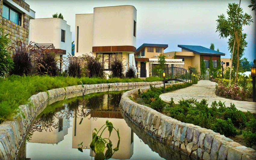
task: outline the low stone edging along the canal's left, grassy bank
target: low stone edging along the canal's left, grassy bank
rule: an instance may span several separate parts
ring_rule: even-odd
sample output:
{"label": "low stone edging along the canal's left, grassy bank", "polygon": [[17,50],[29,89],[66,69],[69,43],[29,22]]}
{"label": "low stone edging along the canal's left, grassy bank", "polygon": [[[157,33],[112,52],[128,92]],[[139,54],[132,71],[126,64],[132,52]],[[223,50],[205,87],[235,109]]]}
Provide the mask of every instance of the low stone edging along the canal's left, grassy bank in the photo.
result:
{"label": "low stone edging along the canal's left, grassy bank", "polygon": [[[127,86],[159,85],[163,82],[128,82],[128,83],[109,83],[84,85],[86,90]],[[0,124],[0,159],[15,159],[21,143],[30,128],[30,123],[38,114],[40,108],[54,97],[65,94],[75,93],[82,90],[82,85],[56,88],[46,92],[40,92],[29,98],[29,103],[19,106],[19,113],[14,116],[14,121],[7,121]]]}

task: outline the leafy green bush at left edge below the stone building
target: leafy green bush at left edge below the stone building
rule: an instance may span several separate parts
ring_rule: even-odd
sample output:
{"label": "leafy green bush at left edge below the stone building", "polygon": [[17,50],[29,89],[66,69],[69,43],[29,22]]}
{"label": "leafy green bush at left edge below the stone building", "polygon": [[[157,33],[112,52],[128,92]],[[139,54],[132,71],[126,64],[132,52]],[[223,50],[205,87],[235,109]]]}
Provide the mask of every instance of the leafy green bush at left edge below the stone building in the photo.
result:
{"label": "leafy green bush at left edge below the stone building", "polygon": [[[2,31],[1,28],[0,31]],[[10,44],[10,39],[7,38],[8,35],[0,35],[0,77],[4,77],[10,69],[13,69],[13,60],[6,50]]]}

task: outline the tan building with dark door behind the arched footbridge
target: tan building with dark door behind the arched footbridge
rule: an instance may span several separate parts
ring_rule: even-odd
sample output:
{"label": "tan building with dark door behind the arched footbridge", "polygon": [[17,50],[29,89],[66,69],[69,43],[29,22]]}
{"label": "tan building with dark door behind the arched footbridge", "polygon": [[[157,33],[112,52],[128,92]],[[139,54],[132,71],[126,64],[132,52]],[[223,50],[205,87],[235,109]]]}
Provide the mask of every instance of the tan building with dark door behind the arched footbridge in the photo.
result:
{"label": "tan building with dark door behind the arched footbridge", "polygon": [[[139,74],[138,77],[158,75],[155,70],[158,66],[158,58],[160,54],[164,54],[164,49],[167,47],[168,45],[163,44],[144,43],[136,50],[135,63]],[[181,59],[174,59],[174,57],[167,56],[165,57],[165,61],[165,67],[184,68],[184,61]]]}

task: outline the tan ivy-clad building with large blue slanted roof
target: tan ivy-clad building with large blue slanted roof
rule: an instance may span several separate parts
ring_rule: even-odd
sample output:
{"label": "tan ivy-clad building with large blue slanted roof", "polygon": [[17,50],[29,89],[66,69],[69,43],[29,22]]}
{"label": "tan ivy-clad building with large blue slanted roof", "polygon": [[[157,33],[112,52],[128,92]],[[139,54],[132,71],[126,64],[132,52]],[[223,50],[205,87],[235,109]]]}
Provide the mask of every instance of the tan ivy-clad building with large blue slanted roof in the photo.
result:
{"label": "tan ivy-clad building with large blue slanted roof", "polygon": [[[167,52],[164,53],[167,57],[175,57],[181,59],[184,62],[184,68],[189,69],[191,67],[197,68],[200,75],[200,60],[203,58],[205,68],[210,68],[210,60],[212,60],[213,68],[217,68],[220,63],[220,56],[225,56],[224,53],[214,51],[209,48],[205,48],[197,45],[178,45],[181,48],[181,52]],[[224,65],[223,65],[224,67]]]}

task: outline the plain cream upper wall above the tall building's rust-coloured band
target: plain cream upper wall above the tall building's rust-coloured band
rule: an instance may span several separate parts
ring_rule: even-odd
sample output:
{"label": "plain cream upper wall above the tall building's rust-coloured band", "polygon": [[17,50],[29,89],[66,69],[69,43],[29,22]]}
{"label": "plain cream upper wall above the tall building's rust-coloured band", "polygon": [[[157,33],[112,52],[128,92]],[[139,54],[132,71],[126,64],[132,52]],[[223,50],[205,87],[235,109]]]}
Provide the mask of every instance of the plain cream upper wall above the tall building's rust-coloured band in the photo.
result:
{"label": "plain cream upper wall above the tall building's rust-coloured band", "polygon": [[92,46],[136,47],[136,37],[133,36],[136,12],[130,5],[94,8]]}

